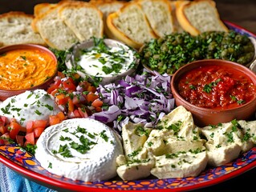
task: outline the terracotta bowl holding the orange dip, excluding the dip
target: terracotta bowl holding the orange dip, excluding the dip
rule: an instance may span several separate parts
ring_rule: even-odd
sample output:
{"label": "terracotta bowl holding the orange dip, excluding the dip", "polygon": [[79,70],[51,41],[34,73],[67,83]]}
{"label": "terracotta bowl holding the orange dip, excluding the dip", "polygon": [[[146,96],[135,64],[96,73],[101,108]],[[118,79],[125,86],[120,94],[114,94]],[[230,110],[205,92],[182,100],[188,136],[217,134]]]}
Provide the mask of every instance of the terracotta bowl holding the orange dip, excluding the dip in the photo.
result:
{"label": "terracotta bowl holding the orange dip, excluding the dip", "polygon": [[22,89],[15,89],[15,90],[3,90],[0,89],[0,100],[4,101],[6,98],[10,98],[11,96],[22,94],[26,90],[37,90],[37,89],[43,89],[47,90],[48,86],[54,81],[55,76],[58,74],[58,63],[57,58],[55,57],[55,54],[51,52],[51,50],[47,49],[44,46],[34,45],[34,44],[17,44],[17,45],[11,45],[11,46],[3,46],[0,48],[0,55],[5,55],[7,51],[11,50],[19,50],[19,49],[27,49],[27,50],[39,50],[40,53],[48,54],[50,56],[51,60],[51,66],[54,67],[55,71],[53,75],[50,77],[47,77],[47,74],[45,77],[47,77],[43,83],[31,86],[29,88],[22,88]]}

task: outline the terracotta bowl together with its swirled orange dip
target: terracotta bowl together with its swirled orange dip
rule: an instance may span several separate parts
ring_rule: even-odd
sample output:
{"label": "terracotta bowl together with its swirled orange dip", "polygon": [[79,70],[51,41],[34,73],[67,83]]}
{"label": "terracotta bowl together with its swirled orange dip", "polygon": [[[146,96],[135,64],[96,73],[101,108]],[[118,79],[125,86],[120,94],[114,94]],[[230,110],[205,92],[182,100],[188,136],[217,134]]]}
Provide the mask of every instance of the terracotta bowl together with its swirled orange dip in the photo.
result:
{"label": "terracotta bowl together with its swirled orange dip", "polygon": [[0,66],[1,101],[26,90],[46,90],[58,73],[55,54],[34,44],[1,47]]}

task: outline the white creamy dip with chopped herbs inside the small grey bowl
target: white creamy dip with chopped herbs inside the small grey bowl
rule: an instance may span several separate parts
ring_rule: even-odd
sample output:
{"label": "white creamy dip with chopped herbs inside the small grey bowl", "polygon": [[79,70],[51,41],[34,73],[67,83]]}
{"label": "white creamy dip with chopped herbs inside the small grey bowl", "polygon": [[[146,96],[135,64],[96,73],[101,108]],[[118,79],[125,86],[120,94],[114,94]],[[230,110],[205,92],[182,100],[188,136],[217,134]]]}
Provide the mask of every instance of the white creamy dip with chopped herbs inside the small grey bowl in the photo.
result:
{"label": "white creamy dip with chopped herbs inside the small grey bowl", "polygon": [[81,50],[81,56],[76,62],[77,67],[82,68],[78,70],[94,77],[123,74],[135,65],[134,53],[131,49],[108,46],[104,43],[104,39],[96,38],[93,47]]}

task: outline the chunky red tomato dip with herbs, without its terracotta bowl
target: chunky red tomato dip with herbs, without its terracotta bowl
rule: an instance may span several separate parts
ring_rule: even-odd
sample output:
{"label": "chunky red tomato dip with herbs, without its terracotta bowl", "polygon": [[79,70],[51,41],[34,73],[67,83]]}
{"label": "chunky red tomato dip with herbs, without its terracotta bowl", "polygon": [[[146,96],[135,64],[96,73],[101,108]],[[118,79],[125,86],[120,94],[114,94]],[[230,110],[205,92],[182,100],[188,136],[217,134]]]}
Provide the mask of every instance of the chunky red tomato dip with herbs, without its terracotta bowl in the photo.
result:
{"label": "chunky red tomato dip with herbs, without its terracotta bowl", "polygon": [[178,91],[195,106],[230,109],[250,102],[256,95],[256,86],[239,70],[209,65],[181,76]]}

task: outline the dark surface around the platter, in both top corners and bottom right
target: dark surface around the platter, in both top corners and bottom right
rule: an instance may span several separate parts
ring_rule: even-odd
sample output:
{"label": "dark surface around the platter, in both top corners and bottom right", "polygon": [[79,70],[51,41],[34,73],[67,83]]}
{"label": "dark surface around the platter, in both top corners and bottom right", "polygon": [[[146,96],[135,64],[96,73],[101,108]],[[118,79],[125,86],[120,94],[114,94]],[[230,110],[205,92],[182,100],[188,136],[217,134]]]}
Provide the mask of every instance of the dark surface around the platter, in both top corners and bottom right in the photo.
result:
{"label": "dark surface around the platter, in both top corners and bottom right", "polygon": [[[27,14],[33,14],[33,7],[40,2],[59,2],[56,0],[0,0],[0,14],[10,10],[24,11]],[[233,22],[238,26],[242,26],[246,30],[256,34],[256,0],[215,0],[217,10],[222,20]],[[247,171],[235,178],[230,178],[225,182],[217,185],[203,188],[205,191],[230,191],[231,189],[254,189],[254,183],[251,178],[255,178],[256,169]]]}

